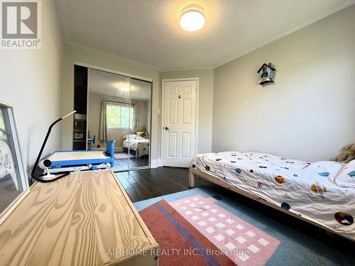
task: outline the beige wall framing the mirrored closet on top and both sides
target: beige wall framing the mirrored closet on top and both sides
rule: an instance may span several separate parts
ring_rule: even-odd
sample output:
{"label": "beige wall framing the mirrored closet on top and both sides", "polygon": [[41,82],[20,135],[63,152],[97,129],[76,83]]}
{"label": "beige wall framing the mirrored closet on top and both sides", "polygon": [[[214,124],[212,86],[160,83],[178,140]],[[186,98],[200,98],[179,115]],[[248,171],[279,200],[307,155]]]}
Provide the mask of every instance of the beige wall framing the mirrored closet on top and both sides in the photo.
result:
{"label": "beige wall framing the mirrored closet on top and both sides", "polygon": [[[160,116],[158,115],[158,109],[160,108],[161,96],[159,70],[106,52],[70,44],[65,44],[64,60],[63,112],[72,111],[74,105],[75,61],[153,79],[151,158],[153,160],[160,158]],[[72,149],[72,118],[63,121],[62,145],[63,149]]]}

